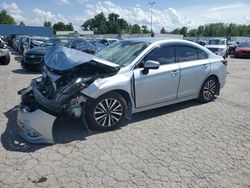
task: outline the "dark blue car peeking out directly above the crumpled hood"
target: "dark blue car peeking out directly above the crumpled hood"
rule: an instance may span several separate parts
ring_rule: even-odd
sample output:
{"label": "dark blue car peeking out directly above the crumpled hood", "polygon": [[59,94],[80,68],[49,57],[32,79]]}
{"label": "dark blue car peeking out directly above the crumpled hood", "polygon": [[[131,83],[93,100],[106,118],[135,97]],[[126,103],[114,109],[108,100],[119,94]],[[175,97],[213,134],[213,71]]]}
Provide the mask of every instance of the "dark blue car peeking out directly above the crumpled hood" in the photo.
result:
{"label": "dark blue car peeking out directly above the crumpled hood", "polygon": [[96,52],[95,46],[88,40],[82,38],[72,39],[65,45],[65,47],[76,49],[88,54],[94,54]]}

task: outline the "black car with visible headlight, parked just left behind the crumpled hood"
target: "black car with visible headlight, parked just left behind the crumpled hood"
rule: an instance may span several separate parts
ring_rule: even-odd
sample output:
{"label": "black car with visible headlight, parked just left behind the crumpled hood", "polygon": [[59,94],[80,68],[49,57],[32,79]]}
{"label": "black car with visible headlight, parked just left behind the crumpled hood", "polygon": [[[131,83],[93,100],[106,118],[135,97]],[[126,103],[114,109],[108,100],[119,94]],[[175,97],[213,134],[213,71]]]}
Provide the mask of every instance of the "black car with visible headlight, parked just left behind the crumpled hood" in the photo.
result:
{"label": "black car with visible headlight, parked just left behind the crumpled hood", "polygon": [[21,60],[22,68],[26,70],[40,71],[44,65],[44,56],[50,47],[64,46],[69,42],[70,38],[51,38],[41,44],[39,47],[31,48],[23,54]]}

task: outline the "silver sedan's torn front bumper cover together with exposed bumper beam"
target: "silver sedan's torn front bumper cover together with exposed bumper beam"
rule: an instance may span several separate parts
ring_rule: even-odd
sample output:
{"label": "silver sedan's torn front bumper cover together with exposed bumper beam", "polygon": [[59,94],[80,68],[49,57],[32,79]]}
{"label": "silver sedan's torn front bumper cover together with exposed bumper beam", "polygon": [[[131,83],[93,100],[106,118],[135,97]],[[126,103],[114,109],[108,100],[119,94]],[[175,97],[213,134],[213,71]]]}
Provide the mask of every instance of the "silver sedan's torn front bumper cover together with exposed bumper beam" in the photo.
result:
{"label": "silver sedan's torn front bumper cover together with exposed bumper beam", "polygon": [[[28,88],[18,92],[22,98],[17,111],[18,133],[30,143],[53,144],[54,122],[62,113],[61,107],[66,101],[71,100],[71,94],[74,94],[73,90],[76,90],[76,85],[65,87],[54,99],[47,99],[38,89],[39,79],[32,80]],[[76,84],[79,86],[78,82]],[[79,88],[82,89],[83,86]],[[30,98],[33,100],[31,101]]]}

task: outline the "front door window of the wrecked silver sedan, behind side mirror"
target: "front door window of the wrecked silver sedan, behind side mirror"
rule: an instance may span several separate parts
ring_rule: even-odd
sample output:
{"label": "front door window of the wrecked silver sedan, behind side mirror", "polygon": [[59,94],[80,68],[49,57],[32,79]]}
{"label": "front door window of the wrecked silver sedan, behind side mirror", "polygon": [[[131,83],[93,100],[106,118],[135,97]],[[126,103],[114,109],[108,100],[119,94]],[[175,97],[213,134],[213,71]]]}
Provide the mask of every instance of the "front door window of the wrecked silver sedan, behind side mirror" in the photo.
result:
{"label": "front door window of the wrecked silver sedan, behind side mirror", "polygon": [[174,47],[157,47],[144,58],[144,62],[146,62],[147,60],[158,61],[161,65],[175,63]]}

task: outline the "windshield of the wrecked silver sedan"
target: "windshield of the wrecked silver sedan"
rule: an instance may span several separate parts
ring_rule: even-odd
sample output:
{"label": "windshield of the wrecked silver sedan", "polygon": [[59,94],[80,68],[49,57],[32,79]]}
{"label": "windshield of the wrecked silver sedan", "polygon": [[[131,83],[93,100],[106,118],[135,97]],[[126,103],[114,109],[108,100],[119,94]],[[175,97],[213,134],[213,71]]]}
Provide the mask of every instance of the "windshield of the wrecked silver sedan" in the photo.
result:
{"label": "windshield of the wrecked silver sedan", "polygon": [[124,67],[130,64],[148,45],[149,43],[146,42],[120,41],[99,51],[95,56]]}

